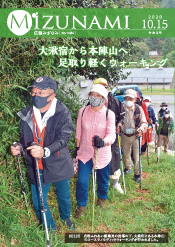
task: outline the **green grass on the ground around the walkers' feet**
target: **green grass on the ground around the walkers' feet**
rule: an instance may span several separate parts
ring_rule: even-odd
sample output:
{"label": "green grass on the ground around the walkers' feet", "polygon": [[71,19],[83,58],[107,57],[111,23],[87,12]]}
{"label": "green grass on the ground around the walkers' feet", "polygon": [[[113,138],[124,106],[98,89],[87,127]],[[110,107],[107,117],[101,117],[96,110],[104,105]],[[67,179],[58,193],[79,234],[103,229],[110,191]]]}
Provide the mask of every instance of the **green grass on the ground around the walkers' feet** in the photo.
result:
{"label": "green grass on the ground around the walkers' feet", "polygon": [[[15,158],[9,156],[8,164],[1,161],[0,190],[1,190],[1,219],[0,219],[0,244],[2,247],[46,246],[45,231],[39,226],[34,212],[30,193],[30,184],[27,177],[25,161],[21,159],[21,166],[27,200],[30,208],[30,218],[26,210],[24,198],[21,194],[21,182]],[[50,233],[52,246],[173,246],[174,245],[174,157],[161,153],[160,162],[157,156],[151,153],[142,156],[142,187],[133,180],[133,173],[125,176],[126,195],[119,194],[112,187],[110,180],[107,208],[95,206],[94,232],[98,233],[163,233],[168,232],[167,244],[66,244],[65,232],[74,233],[62,223],[55,187],[50,187],[48,203],[57,225],[57,234]],[[92,178],[89,184],[89,198],[87,212],[81,219],[74,218],[77,207],[75,198],[77,176],[70,181],[72,220],[75,223],[75,233],[90,233],[92,229]],[[123,187],[122,177],[120,183]]]}

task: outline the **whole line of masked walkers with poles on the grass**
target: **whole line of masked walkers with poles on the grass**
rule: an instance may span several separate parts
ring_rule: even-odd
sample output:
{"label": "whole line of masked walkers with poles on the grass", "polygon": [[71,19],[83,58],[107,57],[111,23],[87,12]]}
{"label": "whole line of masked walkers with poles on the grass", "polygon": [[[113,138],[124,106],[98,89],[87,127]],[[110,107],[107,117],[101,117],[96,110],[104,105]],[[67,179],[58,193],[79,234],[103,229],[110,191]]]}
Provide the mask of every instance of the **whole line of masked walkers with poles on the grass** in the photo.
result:
{"label": "whole line of masked walkers with poles on the grass", "polygon": [[[55,98],[57,85],[50,77],[37,78],[29,88],[31,88],[33,106],[18,112],[21,118],[20,142],[11,146],[11,152],[15,156],[26,157],[33,206],[43,227],[45,228],[47,224],[49,230],[56,230],[56,224],[47,204],[50,184],[54,183],[60,218],[74,230],[74,224],[70,219],[69,190],[69,181],[74,175],[72,158],[68,150],[68,142],[74,131],[70,112]],[[74,152],[74,157],[78,160],[76,218],[86,213],[89,178],[95,166],[99,206],[106,204],[109,178],[113,180],[114,189],[124,193],[119,183],[121,157],[118,135],[121,136],[124,173],[131,173],[131,159],[133,159],[134,180],[139,182],[139,141],[147,131],[148,125],[152,127],[156,124],[158,146],[164,140],[164,151],[167,151],[170,133],[174,133],[173,119],[166,103],[162,103],[157,121],[154,110],[150,106],[150,98],[143,98],[140,91],[126,90],[124,102],[121,103],[109,92],[107,80],[98,78],[94,81],[87,99],[89,103],[79,110],[76,125]],[[145,149],[146,144],[142,146],[143,153]],[[44,221],[43,207],[47,221]]]}

